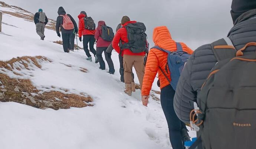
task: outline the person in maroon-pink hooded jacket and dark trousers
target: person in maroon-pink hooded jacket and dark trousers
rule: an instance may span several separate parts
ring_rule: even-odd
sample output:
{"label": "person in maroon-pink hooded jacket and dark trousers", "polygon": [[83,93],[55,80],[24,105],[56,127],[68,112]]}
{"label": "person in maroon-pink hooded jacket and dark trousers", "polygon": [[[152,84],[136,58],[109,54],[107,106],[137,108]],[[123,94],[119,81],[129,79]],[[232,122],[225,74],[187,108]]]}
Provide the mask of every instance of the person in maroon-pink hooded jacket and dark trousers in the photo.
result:
{"label": "person in maroon-pink hooded jacket and dark trousers", "polygon": [[111,53],[107,53],[106,49],[108,48],[108,46],[111,44],[111,41],[105,41],[104,39],[101,38],[102,36],[102,25],[106,25],[104,21],[99,21],[98,22],[98,27],[96,28],[96,32],[95,32],[95,39],[97,42],[96,45],[96,53],[97,53],[97,58],[99,60],[99,69],[105,70],[105,62],[102,58],[102,53],[104,52],[105,55],[105,59],[106,62],[108,63],[108,67],[109,67],[109,73],[110,74],[114,74],[115,73],[115,69],[114,69],[114,63],[111,59]]}

